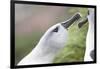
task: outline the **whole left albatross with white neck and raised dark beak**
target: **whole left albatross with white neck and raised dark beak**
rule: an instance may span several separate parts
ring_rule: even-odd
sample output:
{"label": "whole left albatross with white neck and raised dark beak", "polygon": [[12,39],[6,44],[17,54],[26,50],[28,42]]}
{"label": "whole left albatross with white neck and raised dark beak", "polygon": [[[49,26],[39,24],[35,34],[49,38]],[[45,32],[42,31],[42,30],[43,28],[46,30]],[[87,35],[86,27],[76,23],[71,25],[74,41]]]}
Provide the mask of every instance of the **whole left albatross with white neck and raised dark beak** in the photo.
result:
{"label": "whole left albatross with white neck and raised dark beak", "polygon": [[68,28],[81,17],[74,14],[70,19],[50,27],[41,37],[36,47],[25,56],[18,65],[53,63],[55,55],[65,46],[68,39]]}

